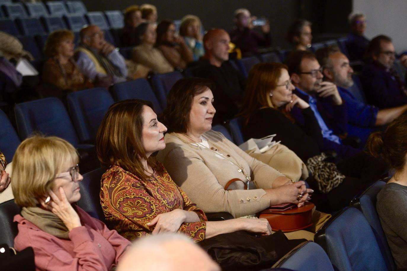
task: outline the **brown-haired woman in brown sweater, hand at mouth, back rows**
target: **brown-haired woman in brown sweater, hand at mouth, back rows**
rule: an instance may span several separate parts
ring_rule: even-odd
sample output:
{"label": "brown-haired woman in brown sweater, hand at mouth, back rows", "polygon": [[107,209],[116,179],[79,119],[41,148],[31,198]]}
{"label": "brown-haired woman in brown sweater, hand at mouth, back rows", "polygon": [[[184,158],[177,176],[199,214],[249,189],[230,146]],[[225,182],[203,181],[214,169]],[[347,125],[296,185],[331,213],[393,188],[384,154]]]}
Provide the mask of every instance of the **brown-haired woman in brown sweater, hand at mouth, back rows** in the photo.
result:
{"label": "brown-haired woman in brown sweater, hand at mouth, back rows", "polygon": [[157,26],[155,47],[162,52],[174,69],[185,69],[194,59],[192,51],[186,46],[182,37],[175,35],[176,32],[173,22],[160,22]]}

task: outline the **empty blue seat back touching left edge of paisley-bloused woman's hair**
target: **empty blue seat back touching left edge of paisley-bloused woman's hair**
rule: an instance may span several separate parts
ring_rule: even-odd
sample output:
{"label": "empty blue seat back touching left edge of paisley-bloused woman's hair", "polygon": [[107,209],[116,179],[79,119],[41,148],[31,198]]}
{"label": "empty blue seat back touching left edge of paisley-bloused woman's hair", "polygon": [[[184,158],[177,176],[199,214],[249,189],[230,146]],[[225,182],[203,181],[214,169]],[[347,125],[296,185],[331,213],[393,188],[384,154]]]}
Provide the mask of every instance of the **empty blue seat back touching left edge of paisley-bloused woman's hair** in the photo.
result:
{"label": "empty blue seat back touching left edge of paisley-bloused woman's hair", "polygon": [[69,93],[68,111],[81,143],[92,143],[107,109],[114,103],[103,87]]}

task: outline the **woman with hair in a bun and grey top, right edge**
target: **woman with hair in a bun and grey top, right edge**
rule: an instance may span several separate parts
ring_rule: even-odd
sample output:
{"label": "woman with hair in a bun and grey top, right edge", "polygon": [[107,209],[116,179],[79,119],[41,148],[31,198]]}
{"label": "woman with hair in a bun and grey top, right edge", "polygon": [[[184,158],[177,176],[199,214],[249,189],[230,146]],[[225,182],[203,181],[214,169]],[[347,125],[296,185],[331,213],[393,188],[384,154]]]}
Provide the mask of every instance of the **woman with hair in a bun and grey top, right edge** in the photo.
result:
{"label": "woman with hair in a bun and grey top, right edge", "polygon": [[396,170],[377,195],[376,209],[398,269],[407,268],[407,116],[401,115],[386,129],[368,139],[368,149]]}

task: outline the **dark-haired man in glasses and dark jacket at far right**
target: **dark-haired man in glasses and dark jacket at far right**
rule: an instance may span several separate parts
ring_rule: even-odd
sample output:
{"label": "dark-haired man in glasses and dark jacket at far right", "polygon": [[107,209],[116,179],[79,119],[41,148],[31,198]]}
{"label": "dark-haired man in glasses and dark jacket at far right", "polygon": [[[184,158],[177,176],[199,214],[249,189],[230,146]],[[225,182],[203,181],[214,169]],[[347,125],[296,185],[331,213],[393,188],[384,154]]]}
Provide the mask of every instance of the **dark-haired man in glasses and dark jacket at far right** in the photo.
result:
{"label": "dark-haired man in glasses and dark jacket at far right", "polygon": [[[379,109],[407,104],[407,87],[394,69],[396,53],[392,40],[385,35],[375,37],[369,43],[367,54],[368,63],[360,79],[368,102]],[[407,67],[407,55],[400,57],[400,63]]]}

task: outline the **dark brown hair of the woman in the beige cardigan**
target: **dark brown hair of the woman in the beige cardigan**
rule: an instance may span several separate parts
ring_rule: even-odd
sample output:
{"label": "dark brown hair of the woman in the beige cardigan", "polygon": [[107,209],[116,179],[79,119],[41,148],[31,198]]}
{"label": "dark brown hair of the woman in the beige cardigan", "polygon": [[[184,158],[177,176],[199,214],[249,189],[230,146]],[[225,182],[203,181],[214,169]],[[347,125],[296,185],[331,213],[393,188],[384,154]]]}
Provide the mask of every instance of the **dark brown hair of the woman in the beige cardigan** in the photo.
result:
{"label": "dark brown hair of the woman in the beige cardigan", "polygon": [[195,95],[206,88],[215,90],[215,83],[204,78],[179,79],[168,92],[167,107],[163,112],[163,123],[168,132],[185,133],[188,130],[189,112]]}

